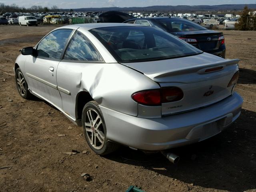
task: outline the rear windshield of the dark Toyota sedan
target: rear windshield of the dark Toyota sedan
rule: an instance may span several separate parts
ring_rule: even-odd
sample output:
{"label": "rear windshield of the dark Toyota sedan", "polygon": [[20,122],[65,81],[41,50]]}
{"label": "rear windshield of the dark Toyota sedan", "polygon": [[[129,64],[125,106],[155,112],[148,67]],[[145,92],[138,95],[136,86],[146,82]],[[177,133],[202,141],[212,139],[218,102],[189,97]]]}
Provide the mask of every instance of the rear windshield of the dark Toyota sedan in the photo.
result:
{"label": "rear windshield of the dark Toyota sedan", "polygon": [[164,26],[164,28],[166,28],[168,32],[207,30],[203,26],[200,26],[186,19],[172,18],[172,19],[158,19],[156,21],[162,26]]}

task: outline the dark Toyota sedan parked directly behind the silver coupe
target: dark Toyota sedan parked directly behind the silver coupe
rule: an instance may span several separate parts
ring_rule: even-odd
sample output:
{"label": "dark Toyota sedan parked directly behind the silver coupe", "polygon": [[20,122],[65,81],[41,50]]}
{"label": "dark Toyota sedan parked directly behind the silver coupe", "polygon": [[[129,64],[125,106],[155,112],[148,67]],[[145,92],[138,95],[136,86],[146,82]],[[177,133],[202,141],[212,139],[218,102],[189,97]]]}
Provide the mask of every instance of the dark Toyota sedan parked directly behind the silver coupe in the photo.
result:
{"label": "dark Toyota sedan parked directly behind the silver coupe", "polygon": [[226,55],[226,46],[222,32],[208,30],[190,20],[181,18],[134,18],[124,23],[142,24],[160,28],[188,42],[196,48],[222,58]]}

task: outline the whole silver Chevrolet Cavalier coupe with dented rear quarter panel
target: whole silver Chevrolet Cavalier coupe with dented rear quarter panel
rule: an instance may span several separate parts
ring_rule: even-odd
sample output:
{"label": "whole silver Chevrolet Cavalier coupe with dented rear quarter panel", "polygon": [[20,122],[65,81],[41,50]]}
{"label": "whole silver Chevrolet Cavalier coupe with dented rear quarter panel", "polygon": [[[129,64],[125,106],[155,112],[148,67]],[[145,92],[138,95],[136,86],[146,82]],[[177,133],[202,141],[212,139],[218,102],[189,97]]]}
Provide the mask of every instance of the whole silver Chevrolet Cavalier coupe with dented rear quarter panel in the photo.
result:
{"label": "whole silver Chevrolet Cavalier coupe with dented rear quarter panel", "polygon": [[157,28],[78,24],[22,49],[14,72],[22,98],[55,106],[104,155],[118,144],[158,151],[222,132],[242,107],[238,62]]}

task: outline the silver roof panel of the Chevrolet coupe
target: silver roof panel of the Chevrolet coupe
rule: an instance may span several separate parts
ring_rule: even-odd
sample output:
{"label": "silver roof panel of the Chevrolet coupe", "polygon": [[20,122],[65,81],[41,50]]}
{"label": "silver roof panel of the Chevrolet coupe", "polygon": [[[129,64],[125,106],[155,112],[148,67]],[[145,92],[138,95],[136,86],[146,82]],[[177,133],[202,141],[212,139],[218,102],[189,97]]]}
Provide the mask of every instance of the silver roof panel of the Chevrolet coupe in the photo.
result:
{"label": "silver roof panel of the Chevrolet coupe", "polygon": [[[91,29],[101,28],[101,27],[119,27],[119,26],[136,26],[136,25],[128,24],[128,23],[86,23],[86,24],[68,25],[60,28],[74,29],[74,27],[79,27],[79,28],[84,28],[85,30],[91,30]],[[137,25],[137,26],[143,26],[143,25]]]}

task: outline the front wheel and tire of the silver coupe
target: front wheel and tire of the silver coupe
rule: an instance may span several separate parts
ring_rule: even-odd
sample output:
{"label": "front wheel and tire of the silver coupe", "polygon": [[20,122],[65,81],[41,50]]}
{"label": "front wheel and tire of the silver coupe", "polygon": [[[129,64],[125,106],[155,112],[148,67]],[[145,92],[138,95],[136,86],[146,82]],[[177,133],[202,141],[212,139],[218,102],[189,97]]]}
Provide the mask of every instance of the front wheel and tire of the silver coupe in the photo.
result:
{"label": "front wheel and tire of the silver coupe", "polygon": [[24,99],[31,98],[32,94],[28,90],[28,84],[27,84],[20,68],[17,68],[15,71],[15,80],[16,80],[16,86],[17,86],[20,96]]}

